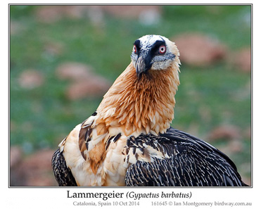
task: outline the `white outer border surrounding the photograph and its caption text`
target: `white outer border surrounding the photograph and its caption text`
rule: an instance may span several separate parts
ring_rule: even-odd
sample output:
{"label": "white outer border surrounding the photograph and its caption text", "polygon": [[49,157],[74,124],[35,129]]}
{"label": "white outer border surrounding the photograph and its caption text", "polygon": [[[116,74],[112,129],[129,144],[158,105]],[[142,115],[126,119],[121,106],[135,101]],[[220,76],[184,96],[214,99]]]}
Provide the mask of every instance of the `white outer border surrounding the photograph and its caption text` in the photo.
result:
{"label": "white outer border surrounding the photograph and its caption text", "polygon": [[[1,1],[0,5],[0,21],[1,21],[1,205],[3,208],[72,208],[72,198],[67,198],[67,190],[71,192],[101,192],[99,188],[8,188],[8,4],[40,4],[41,2],[35,1]],[[44,1],[43,4],[53,4],[53,1]],[[86,4],[87,1],[56,1],[56,4]],[[88,2],[89,3],[89,2]],[[108,1],[95,1],[94,4],[108,4]],[[122,4],[122,2],[113,2],[114,4]],[[141,4],[141,1],[128,2],[131,4]],[[194,1],[150,1],[143,2],[144,4],[196,4]],[[227,202],[251,202],[252,207],[256,208],[260,205],[259,194],[260,194],[260,3],[258,1],[200,1],[198,4],[253,4],[253,188],[105,188],[102,192],[123,192],[134,191],[136,193],[161,193],[162,191],[168,191],[175,193],[183,192],[192,193],[192,197],[189,201],[227,201]],[[255,61],[254,61],[255,60]],[[254,115],[255,114],[255,115]],[[254,166],[255,165],[255,166]],[[3,195],[4,194],[4,195]],[[153,207],[151,201],[155,199],[145,198],[140,202],[139,207],[150,207],[150,208],[174,208],[174,206],[167,205],[165,207]],[[167,201],[170,199],[168,198]],[[99,200],[95,200],[99,201]],[[113,201],[113,200],[111,200]],[[122,198],[121,201],[129,201]],[[163,199],[164,201],[164,199]],[[173,201],[173,199],[171,199]],[[184,201],[184,199],[177,199],[177,201]],[[1,206],[2,207],[2,206]],[[80,206],[79,206],[80,207]],[[101,208],[82,206],[88,208]],[[138,208],[139,208],[138,207]],[[104,207],[103,207],[104,208]],[[111,207],[107,207],[111,208]],[[115,207],[117,208],[117,207]],[[130,207],[128,207],[130,208]],[[134,206],[132,206],[134,208]],[[188,208],[188,207],[178,207]],[[198,207],[200,208],[200,207]],[[207,207],[206,207],[207,208]],[[213,207],[215,208],[215,207]],[[217,208],[217,207],[216,207]],[[220,208],[220,207],[219,207]],[[221,207],[227,208],[227,207]],[[241,207],[244,208],[244,207]]]}

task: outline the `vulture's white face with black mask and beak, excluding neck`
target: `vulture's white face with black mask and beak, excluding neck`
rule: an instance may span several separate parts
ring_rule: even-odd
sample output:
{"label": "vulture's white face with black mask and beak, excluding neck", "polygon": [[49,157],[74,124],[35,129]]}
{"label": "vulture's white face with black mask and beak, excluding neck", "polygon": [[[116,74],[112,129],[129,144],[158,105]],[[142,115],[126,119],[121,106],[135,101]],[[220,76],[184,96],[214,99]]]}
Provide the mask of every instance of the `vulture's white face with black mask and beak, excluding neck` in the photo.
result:
{"label": "vulture's white face with black mask and beak, excluding neck", "polygon": [[179,50],[174,42],[166,37],[152,34],[136,39],[131,58],[139,78],[148,70],[165,70],[174,61],[180,64],[178,56]]}

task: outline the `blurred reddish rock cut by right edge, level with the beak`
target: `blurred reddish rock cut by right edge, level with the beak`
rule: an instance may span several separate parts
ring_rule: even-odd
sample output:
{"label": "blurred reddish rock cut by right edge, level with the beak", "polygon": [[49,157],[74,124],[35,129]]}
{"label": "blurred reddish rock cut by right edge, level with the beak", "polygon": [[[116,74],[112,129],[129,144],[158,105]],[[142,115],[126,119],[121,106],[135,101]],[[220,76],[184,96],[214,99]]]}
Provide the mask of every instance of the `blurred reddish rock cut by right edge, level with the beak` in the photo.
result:
{"label": "blurred reddish rock cut by right edge, level with the beak", "polygon": [[232,53],[228,62],[242,72],[251,72],[251,49],[244,48]]}

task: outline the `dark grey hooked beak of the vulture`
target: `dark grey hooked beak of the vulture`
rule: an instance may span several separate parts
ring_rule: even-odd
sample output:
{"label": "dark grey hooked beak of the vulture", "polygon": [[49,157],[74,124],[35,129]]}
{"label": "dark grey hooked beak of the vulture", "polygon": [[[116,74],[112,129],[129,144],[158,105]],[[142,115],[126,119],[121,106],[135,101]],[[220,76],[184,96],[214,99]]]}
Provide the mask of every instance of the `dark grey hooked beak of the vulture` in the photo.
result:
{"label": "dark grey hooked beak of the vulture", "polygon": [[138,79],[141,77],[141,73],[151,69],[151,56],[149,53],[142,53],[139,55],[136,61],[136,75]]}

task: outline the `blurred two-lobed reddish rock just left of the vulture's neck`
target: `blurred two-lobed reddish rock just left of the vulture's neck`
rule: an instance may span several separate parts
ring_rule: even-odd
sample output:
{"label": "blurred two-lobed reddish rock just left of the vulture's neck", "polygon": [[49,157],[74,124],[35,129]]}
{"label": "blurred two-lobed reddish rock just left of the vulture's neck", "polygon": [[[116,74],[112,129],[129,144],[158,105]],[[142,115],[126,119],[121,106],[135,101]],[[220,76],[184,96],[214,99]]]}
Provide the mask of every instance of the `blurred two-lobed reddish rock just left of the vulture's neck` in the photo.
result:
{"label": "blurred two-lobed reddish rock just left of the vulture's neck", "polygon": [[108,80],[94,75],[92,68],[82,63],[63,63],[58,66],[56,75],[60,79],[72,81],[66,91],[66,95],[72,100],[103,96],[110,88]]}

